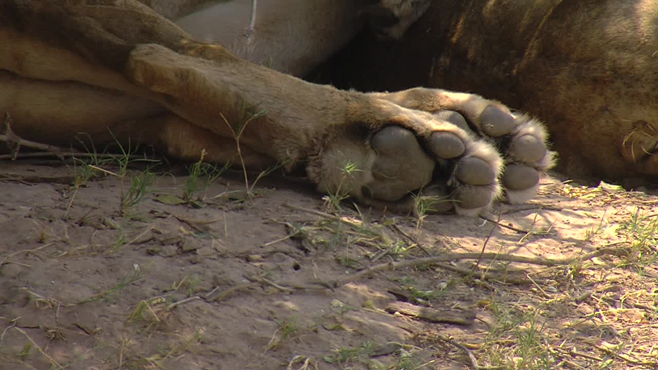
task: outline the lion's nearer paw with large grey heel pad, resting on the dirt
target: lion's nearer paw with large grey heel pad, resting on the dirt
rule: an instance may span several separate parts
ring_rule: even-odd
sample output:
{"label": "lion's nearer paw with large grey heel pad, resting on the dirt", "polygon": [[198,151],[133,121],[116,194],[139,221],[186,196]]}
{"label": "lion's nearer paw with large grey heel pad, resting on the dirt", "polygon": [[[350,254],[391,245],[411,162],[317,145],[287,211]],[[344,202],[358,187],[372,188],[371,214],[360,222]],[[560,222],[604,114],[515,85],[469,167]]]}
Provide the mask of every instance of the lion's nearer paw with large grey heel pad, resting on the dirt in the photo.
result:
{"label": "lion's nearer paw with large grey heel pad, resting on the dirt", "polygon": [[[340,130],[307,168],[318,190],[397,211],[415,209],[412,194],[420,192],[442,203],[434,211],[462,215],[477,215],[501,194],[503,161],[492,144],[430,113],[386,101],[370,112],[359,107],[352,129]],[[364,124],[368,130],[357,129]]]}

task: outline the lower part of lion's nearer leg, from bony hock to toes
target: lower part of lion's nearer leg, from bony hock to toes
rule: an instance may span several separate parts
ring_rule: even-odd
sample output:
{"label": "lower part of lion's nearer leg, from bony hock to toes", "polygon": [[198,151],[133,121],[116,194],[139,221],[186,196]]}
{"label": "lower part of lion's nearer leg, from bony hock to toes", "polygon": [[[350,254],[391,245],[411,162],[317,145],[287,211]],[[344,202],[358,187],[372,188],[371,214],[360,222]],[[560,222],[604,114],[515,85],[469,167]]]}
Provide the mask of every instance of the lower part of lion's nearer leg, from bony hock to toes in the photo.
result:
{"label": "lower part of lion's nearer leg, from bony hock to toes", "polygon": [[[245,144],[260,145],[288,169],[307,162],[307,174],[322,192],[400,209],[410,192],[438,180],[453,190],[458,213],[468,215],[500,192],[499,154],[455,124],[365,93],[230,60],[215,46],[191,50],[184,55],[140,45],[127,74],[139,86],[165,94],[168,109],[199,126],[222,136],[240,131]],[[250,74],[229,79],[238,71]],[[438,162],[449,163],[449,178],[433,177]]]}

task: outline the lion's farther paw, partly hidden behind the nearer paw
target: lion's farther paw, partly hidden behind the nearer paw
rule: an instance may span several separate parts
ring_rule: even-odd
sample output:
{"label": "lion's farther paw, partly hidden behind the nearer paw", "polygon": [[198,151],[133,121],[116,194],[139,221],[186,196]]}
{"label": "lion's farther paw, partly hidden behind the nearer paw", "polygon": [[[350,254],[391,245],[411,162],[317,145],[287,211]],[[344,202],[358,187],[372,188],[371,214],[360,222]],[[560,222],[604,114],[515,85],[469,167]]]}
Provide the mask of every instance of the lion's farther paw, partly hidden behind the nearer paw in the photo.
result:
{"label": "lion's farther paw, partly hidden behind the nearer paw", "polygon": [[533,198],[540,176],[555,164],[555,153],[547,149],[544,125],[528,115],[511,113],[497,101],[425,88],[375,95],[403,107],[433,113],[493,144],[505,162],[501,182],[510,203]]}

